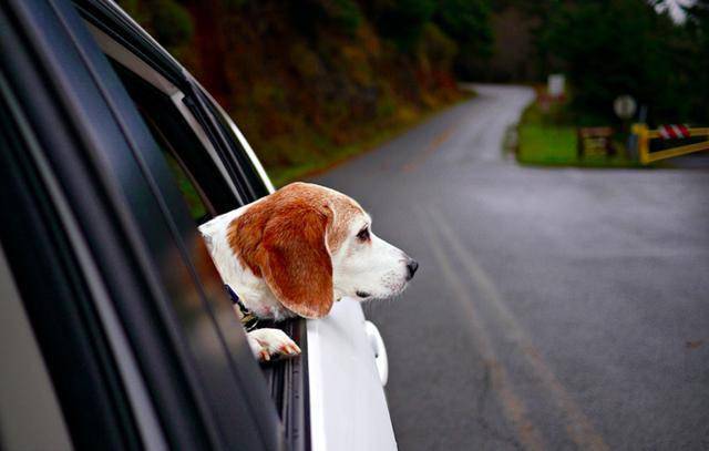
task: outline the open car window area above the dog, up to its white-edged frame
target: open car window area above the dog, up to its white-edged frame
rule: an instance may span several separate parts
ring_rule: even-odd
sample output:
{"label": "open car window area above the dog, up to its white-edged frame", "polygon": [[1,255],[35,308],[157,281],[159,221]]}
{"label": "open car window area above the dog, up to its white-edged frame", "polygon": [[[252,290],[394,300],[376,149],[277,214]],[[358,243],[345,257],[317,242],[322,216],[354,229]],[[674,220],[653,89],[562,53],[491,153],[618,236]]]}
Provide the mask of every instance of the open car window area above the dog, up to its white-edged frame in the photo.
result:
{"label": "open car window area above the dog, up to its white-edged frame", "polygon": [[198,224],[273,189],[236,125],[196,82],[158,71],[114,37],[86,25],[160,144]]}

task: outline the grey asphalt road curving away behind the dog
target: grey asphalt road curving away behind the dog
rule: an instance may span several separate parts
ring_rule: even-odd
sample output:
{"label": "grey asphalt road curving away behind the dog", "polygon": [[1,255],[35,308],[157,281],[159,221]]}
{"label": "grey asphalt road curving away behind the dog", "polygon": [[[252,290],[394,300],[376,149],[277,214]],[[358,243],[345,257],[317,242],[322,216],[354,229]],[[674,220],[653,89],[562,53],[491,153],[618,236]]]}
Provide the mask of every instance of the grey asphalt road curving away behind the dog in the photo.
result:
{"label": "grey asphalt road curving away behind the dog", "polygon": [[521,167],[477,89],[316,180],[421,264],[364,307],[400,449],[709,449],[709,171]]}

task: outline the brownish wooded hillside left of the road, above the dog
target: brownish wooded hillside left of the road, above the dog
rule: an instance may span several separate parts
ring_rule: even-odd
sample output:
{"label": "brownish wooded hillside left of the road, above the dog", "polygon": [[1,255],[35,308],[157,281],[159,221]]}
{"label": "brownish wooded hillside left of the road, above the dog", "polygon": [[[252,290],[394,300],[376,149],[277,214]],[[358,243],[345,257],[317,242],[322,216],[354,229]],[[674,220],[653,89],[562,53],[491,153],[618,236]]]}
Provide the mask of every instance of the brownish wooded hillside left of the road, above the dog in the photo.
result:
{"label": "brownish wooded hillside left of the road, above the dog", "polygon": [[432,2],[394,16],[352,0],[120,3],[233,115],[276,183],[462,96]]}

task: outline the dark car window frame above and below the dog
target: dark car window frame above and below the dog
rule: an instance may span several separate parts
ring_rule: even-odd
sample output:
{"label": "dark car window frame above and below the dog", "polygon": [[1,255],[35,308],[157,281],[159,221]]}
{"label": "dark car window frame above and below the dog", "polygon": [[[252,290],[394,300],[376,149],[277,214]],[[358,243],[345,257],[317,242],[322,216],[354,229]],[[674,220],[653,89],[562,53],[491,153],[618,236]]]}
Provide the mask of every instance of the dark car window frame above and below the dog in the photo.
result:
{"label": "dark car window frame above and below the dog", "polygon": [[[119,27],[117,22],[112,20],[111,14],[99,11],[101,8],[113,10],[115,7],[95,0],[75,0],[74,3],[85,21],[91,22],[92,27],[121,45],[122,52],[130,53],[127,59],[140,59],[140,66],[143,70],[147,66],[148,72],[152,72],[151,79],[161,80],[162,76],[160,85],[156,88],[166,86],[167,84],[164,82],[167,82],[184,95],[184,103],[192,117],[196,120],[195,125],[203,127],[204,134],[215,148],[216,155],[210,153],[209,157],[220,160],[227,168],[227,174],[222,175],[233,180],[234,184],[238,186],[242,199],[246,201],[235,207],[256,201],[274,191],[270,181],[238,127],[184,68],[164,53],[158,44],[124,13],[112,11],[112,13],[121,16],[121,20],[130,23],[130,27]],[[135,35],[136,33],[138,35]],[[135,73],[135,71],[133,72]],[[137,75],[140,76],[140,74]],[[176,92],[173,95],[177,95]],[[184,112],[182,109],[179,110],[181,113]],[[296,339],[302,350],[302,356],[294,360],[265,365],[261,369],[286,429],[287,442],[294,450],[305,450],[310,448],[306,320],[289,320],[277,325],[277,327]]]}

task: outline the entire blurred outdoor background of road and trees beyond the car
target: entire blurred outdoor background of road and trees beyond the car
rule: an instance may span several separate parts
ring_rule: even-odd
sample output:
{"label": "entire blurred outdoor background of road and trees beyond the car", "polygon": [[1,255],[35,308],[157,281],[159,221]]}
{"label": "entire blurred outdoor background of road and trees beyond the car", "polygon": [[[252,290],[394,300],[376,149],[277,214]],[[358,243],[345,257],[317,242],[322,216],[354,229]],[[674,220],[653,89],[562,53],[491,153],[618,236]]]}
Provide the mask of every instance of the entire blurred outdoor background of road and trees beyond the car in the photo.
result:
{"label": "entire blurred outdoor background of road and trees beyond the car", "polygon": [[401,449],[709,449],[709,1],[119,3],[421,263]]}

